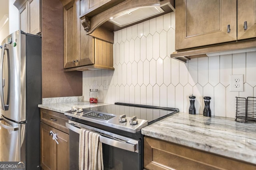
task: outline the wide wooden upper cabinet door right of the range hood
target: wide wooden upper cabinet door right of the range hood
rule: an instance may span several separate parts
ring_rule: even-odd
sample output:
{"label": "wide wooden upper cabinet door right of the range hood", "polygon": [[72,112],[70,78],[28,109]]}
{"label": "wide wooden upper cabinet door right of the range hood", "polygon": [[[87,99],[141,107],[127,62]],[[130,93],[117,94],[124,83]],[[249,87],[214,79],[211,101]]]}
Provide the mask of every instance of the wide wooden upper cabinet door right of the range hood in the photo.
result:
{"label": "wide wooden upper cabinet door right of the range hood", "polygon": [[236,0],[176,0],[175,8],[176,50],[236,41]]}

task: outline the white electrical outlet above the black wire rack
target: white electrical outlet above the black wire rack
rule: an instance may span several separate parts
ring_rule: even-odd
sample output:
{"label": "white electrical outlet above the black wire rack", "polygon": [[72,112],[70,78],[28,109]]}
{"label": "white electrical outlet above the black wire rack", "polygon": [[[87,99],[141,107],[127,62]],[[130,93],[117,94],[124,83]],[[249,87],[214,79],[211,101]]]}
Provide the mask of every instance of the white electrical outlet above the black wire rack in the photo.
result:
{"label": "white electrical outlet above the black wire rack", "polygon": [[244,91],[244,74],[230,75],[230,92]]}

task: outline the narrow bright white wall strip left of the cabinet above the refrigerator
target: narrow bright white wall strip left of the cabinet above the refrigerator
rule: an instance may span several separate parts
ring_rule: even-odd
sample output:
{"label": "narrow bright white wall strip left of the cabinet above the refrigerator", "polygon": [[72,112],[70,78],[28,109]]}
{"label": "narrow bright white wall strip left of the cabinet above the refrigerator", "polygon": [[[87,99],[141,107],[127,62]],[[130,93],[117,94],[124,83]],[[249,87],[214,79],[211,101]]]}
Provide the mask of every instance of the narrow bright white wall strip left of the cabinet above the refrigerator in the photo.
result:
{"label": "narrow bright white wall strip left of the cabinet above the refrigerator", "polygon": [[19,29],[19,11],[13,5],[15,0],[9,0],[9,34]]}

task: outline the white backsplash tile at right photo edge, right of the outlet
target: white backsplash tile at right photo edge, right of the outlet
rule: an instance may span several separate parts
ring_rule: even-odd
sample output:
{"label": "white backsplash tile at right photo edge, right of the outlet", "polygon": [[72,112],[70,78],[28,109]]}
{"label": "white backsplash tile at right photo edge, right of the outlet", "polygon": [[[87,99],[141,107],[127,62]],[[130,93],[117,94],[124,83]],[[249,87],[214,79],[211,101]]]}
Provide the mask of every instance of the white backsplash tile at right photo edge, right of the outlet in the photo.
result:
{"label": "white backsplash tile at right photo edge, right of the outlet", "polygon": [[256,52],[246,53],[246,82],[256,86]]}

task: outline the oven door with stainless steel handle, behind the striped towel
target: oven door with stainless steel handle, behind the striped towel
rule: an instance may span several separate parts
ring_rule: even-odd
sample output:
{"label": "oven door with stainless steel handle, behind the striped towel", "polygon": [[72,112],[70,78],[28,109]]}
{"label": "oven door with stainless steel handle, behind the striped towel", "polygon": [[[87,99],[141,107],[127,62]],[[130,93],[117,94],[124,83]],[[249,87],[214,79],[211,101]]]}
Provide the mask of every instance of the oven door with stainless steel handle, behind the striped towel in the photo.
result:
{"label": "oven door with stainless steel handle, behind the striped towel", "polygon": [[70,170],[79,170],[79,135],[80,128],[100,133],[102,142],[104,170],[141,170],[142,145],[141,140],[131,139],[96,129],[81,123],[69,121]]}

